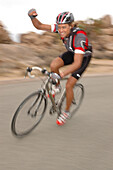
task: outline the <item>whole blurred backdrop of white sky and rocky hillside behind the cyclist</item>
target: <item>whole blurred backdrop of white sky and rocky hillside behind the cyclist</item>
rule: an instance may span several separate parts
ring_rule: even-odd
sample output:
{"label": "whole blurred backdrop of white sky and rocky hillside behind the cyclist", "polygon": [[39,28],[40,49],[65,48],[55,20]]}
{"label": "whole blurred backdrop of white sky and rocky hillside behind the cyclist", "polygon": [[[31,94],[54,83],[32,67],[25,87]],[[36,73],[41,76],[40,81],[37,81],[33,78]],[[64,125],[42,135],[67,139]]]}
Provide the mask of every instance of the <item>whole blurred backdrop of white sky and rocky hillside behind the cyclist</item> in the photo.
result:
{"label": "whole blurred backdrop of white sky and rocky hillside behind the cyclist", "polygon": [[49,67],[65,51],[57,34],[36,30],[28,10],[54,24],[62,11],[70,11],[93,45],[93,59],[85,74],[113,74],[113,12],[111,1],[0,0],[0,78],[23,77],[28,66]]}

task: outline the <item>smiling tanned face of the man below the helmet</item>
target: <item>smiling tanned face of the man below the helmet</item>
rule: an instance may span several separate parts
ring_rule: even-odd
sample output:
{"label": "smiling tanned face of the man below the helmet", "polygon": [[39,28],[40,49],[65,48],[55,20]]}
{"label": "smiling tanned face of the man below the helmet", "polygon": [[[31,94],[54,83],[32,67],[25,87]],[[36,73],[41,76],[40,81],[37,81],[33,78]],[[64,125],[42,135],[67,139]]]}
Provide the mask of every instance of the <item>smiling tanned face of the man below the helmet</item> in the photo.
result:
{"label": "smiling tanned face of the man below the helmet", "polygon": [[70,34],[70,26],[69,24],[58,24],[58,31],[61,38],[68,37]]}

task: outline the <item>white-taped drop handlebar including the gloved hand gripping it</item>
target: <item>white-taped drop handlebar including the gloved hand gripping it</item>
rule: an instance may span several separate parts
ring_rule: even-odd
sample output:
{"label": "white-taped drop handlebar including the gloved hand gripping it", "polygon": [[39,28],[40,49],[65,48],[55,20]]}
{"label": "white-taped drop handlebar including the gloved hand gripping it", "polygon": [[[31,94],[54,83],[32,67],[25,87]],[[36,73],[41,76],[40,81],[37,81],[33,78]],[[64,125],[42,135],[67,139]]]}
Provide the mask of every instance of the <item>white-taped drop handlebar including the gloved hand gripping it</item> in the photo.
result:
{"label": "white-taped drop handlebar including the gloved hand gripping it", "polygon": [[60,79],[61,79],[60,75],[58,75],[57,73],[48,72],[45,68],[42,69],[42,68],[37,67],[37,66],[36,66],[36,67],[32,67],[32,68],[27,67],[25,77],[26,77],[26,75],[28,74],[28,76],[29,76],[30,78],[34,78],[35,75],[31,75],[32,70],[39,70],[42,74],[45,74],[45,75],[49,76],[49,77],[52,78],[52,79],[57,79],[57,80],[60,80]]}

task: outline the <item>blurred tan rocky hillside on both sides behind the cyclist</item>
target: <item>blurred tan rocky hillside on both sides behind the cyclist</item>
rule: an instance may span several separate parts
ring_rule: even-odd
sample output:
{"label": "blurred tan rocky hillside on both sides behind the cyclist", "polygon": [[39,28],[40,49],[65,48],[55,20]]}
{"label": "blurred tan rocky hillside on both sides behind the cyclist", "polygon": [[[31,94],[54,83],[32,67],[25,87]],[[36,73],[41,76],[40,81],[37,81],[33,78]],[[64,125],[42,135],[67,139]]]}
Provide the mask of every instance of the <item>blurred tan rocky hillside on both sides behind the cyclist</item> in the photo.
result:
{"label": "blurred tan rocky hillside on both sides behind the cyclist", "polygon": [[[113,59],[113,25],[106,15],[99,20],[78,21],[93,45],[93,57]],[[0,77],[21,76],[28,66],[49,66],[53,58],[65,51],[57,34],[30,32],[13,42],[0,22]]]}

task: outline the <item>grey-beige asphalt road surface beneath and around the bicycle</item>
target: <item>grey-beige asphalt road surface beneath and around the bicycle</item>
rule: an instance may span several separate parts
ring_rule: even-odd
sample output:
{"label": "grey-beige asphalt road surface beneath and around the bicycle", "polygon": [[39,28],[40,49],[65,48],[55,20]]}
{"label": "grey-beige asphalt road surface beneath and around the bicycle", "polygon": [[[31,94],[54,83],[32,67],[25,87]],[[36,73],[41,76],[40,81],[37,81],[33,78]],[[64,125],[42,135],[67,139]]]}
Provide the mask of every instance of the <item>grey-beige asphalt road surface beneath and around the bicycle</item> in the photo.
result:
{"label": "grey-beige asphalt road surface beneath and around the bicycle", "polygon": [[85,97],[62,127],[48,110],[39,126],[18,139],[10,130],[20,102],[38,81],[0,83],[0,170],[113,170],[113,76],[85,77]]}

